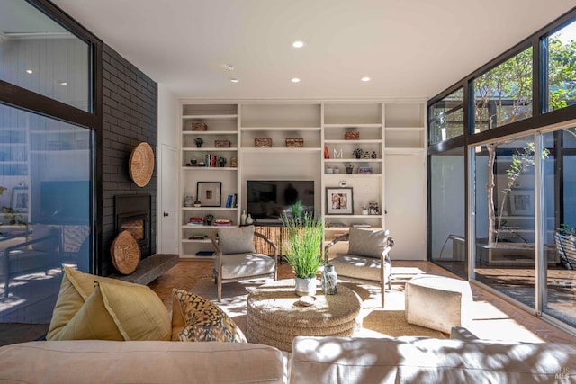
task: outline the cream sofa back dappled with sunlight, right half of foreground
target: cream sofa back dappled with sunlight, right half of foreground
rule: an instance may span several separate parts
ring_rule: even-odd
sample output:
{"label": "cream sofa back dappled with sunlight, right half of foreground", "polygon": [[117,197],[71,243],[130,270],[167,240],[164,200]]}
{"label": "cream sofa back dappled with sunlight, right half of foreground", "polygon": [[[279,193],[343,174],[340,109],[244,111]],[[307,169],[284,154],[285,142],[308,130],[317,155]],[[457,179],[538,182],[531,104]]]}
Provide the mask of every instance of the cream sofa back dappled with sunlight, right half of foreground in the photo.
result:
{"label": "cream sofa back dappled with sunlight, right half of foreground", "polygon": [[293,340],[290,372],[294,384],[573,382],[576,346],[410,336],[298,336]]}

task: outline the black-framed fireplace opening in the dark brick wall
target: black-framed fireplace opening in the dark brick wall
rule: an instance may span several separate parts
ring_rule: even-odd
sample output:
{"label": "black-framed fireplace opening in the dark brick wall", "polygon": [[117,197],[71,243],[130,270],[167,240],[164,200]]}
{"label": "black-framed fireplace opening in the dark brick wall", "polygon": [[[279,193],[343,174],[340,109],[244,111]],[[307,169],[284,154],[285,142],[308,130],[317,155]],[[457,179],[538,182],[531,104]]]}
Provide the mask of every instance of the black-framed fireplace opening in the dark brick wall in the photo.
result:
{"label": "black-framed fireplace opening in the dark brick wall", "polygon": [[114,197],[116,235],[128,230],[136,238],[142,259],[151,254],[151,201],[149,194]]}

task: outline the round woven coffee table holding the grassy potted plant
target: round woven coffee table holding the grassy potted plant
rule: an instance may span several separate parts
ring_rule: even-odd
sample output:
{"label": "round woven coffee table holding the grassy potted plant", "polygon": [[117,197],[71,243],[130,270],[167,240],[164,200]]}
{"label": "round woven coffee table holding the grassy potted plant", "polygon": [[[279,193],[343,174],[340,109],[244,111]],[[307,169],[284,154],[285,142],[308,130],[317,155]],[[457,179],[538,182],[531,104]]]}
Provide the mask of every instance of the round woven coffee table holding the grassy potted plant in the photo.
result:
{"label": "round woven coffee table holding the grassy potted plant", "polygon": [[324,295],[317,283],[310,307],[298,302],[294,280],[274,281],[252,290],[247,299],[247,340],[292,352],[296,336],[352,336],[358,326],[360,298],[338,285],[336,295]]}

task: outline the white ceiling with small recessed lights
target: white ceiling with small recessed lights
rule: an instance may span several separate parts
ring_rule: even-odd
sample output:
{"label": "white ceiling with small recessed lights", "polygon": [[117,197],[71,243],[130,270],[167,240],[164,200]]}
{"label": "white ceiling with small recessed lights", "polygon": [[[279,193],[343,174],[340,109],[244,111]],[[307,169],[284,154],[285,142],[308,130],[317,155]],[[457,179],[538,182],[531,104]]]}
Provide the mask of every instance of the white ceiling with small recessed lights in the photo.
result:
{"label": "white ceiling with small recessed lights", "polygon": [[[432,97],[576,6],[576,0],[53,2],[176,96],[209,99]],[[293,49],[293,40],[307,45]],[[302,82],[293,84],[293,77]]]}

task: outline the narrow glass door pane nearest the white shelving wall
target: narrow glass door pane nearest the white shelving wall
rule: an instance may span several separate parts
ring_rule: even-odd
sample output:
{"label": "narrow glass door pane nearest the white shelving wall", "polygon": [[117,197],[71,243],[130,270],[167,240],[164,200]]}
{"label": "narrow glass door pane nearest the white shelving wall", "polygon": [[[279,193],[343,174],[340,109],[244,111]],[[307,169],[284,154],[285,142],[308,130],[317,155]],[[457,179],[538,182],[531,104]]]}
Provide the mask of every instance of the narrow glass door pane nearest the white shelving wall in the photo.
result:
{"label": "narrow glass door pane nearest the white shelving wall", "polygon": [[432,261],[467,278],[464,147],[429,160]]}

